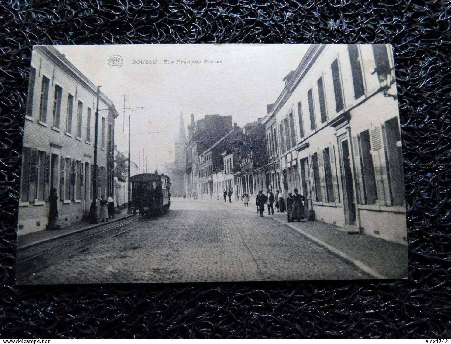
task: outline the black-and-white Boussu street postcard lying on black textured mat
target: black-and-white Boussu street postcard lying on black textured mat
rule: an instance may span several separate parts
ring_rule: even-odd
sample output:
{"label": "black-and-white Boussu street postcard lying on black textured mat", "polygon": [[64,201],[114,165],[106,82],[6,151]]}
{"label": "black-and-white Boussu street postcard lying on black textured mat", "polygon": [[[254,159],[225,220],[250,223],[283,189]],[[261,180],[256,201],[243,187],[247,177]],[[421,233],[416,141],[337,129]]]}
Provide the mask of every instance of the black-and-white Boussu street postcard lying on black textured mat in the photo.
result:
{"label": "black-and-white Boussu street postcard lying on black textured mat", "polygon": [[17,284],[404,279],[390,45],[34,46]]}

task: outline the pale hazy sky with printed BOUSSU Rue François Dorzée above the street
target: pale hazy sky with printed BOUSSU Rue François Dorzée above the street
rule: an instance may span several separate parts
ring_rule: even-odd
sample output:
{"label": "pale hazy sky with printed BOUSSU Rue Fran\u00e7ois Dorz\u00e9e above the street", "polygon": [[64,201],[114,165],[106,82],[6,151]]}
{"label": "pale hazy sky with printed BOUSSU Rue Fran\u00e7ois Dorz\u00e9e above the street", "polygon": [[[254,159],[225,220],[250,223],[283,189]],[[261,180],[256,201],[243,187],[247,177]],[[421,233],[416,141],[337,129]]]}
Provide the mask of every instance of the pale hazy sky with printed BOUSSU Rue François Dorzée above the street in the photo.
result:
{"label": "pale hazy sky with printed BOUSSU Rue Fran\u00e7ois Dorz\u00e9e above the street", "polygon": [[[115,122],[115,144],[128,153],[128,116],[131,115],[131,159],[143,172],[143,148],[147,170],[174,161],[179,135],[179,116],[184,126],[205,115],[231,115],[238,126],[266,115],[266,104],[276,101],[283,78],[295,70],[307,45],[105,45],[56,46],[114,103],[120,113]],[[123,65],[110,67],[110,56],[119,55]],[[135,63],[133,63],[133,60]],[[156,60],[156,64],[145,63]],[[164,61],[174,63],[164,63]],[[177,63],[199,61],[200,63]],[[204,63],[222,61],[222,63]],[[137,63],[143,61],[144,64]],[[125,107],[144,107],[125,110]],[[159,131],[155,134],[139,134]],[[187,132],[185,132],[187,134]]]}

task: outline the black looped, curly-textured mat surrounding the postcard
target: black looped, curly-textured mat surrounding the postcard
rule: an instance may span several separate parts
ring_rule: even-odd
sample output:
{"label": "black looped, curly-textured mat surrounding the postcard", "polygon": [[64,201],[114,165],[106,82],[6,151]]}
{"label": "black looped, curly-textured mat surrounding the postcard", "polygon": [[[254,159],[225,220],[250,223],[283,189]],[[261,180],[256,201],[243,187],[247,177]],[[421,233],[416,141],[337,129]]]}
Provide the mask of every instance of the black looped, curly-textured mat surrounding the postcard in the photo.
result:
{"label": "black looped, curly-textured mat surrounding the postcard", "polygon": [[[0,0],[0,337],[451,335],[451,3],[302,2]],[[18,176],[32,45],[238,42],[393,44],[409,279],[18,288]]]}

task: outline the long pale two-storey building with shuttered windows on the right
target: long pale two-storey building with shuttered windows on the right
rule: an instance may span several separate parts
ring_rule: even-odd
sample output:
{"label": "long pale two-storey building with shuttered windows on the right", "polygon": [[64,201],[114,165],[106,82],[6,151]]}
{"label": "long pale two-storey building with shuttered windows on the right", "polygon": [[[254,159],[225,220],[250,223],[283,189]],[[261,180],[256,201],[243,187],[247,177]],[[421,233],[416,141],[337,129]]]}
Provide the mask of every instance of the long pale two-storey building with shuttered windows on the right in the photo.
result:
{"label": "long pale two-storey building with shuttered windows on the right", "polygon": [[392,59],[386,45],[313,45],[264,121],[281,188],[298,188],[306,212],[406,243]]}

